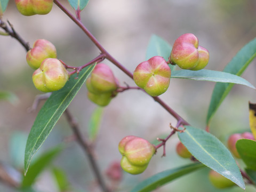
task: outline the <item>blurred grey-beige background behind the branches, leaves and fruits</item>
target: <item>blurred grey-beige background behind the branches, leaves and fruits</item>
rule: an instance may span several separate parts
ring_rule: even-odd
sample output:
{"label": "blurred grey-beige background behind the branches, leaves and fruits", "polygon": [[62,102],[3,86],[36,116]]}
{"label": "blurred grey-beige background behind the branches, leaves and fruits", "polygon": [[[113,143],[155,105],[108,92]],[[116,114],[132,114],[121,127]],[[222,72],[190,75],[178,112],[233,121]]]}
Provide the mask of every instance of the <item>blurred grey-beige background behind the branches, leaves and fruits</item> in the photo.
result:
{"label": "blurred grey-beige background behind the branches, leaves and fruits", "polygon": [[[73,11],[67,1],[60,1]],[[193,33],[199,44],[210,52],[206,69],[222,70],[239,49],[256,36],[256,1],[254,0],[94,0],[81,13],[82,22],[105,49],[127,69],[133,71],[145,60],[151,35],[156,34],[172,45],[184,33]],[[81,66],[99,54],[99,50],[56,5],[47,15],[25,17],[10,1],[3,20],[9,20],[17,33],[30,46],[45,38],[57,47],[58,59],[70,66]],[[39,108],[28,113],[37,91],[31,81],[33,69],[26,63],[25,49],[13,38],[0,36],[0,90],[13,93],[11,101],[0,100],[0,162],[23,169],[26,139]],[[105,62],[105,61],[104,61]],[[106,61],[122,85],[134,86],[132,79]],[[256,86],[255,61],[242,75]],[[125,82],[125,83],[124,83]],[[160,97],[191,125],[204,129],[213,82],[171,79],[169,90]],[[231,133],[249,131],[248,102],[256,102],[255,90],[235,85],[212,119],[211,132],[226,145]],[[70,111],[81,125],[84,137],[88,135],[88,122],[95,106],[86,97],[86,87],[70,104]],[[175,119],[158,103],[142,91],[131,90],[118,94],[104,108],[99,135],[95,141],[102,175],[112,162],[119,161],[118,143],[126,135],[136,135],[149,141],[169,134],[169,123]],[[38,154],[69,140],[73,132],[61,117]],[[119,191],[129,191],[149,176],[166,169],[187,165],[175,153],[178,142],[174,135],[166,143],[166,157],[161,158],[162,148],[151,159],[148,169],[139,175],[124,173]],[[92,170],[82,149],[75,141],[66,142],[61,155],[52,167],[59,167],[67,174],[73,186],[71,191],[100,191],[95,184]],[[58,191],[51,169],[46,169],[37,179],[38,191]],[[217,190],[207,178],[209,169],[191,173],[156,191],[244,191],[239,187]],[[108,181],[110,182],[110,181]],[[131,185],[132,183],[132,185]],[[0,182],[0,191],[17,191]],[[247,185],[246,191],[255,191]]]}

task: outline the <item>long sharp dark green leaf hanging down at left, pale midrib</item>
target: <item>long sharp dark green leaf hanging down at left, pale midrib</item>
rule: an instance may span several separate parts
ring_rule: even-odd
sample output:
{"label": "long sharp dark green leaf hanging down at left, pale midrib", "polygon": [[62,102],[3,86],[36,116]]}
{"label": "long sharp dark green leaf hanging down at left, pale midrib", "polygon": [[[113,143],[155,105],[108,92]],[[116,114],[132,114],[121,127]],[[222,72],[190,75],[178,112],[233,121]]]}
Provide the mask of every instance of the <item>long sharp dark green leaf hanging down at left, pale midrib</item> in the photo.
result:
{"label": "long sharp dark green leaf hanging down at left, pale midrib", "polygon": [[44,106],[37,114],[34,125],[32,126],[28,135],[28,140],[25,149],[25,174],[31,159],[37,150],[43,145],[54,125],[59,120],[62,113],[66,110],[70,102],[82,87],[86,78],[90,75],[93,66],[83,69],[79,73],[78,79],[76,74],[71,76],[66,85],[59,91],[51,94],[50,98],[46,100]]}

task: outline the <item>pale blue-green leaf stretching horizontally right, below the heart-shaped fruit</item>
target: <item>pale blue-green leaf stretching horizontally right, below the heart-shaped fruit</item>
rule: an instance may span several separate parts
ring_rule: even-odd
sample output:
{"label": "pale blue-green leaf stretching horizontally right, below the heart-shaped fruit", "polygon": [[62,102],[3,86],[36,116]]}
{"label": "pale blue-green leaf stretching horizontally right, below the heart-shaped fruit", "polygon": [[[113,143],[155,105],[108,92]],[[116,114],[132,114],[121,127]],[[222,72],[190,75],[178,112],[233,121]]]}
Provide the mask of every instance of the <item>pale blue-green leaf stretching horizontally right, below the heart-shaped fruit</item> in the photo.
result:
{"label": "pale blue-green leaf stretching horizontally right, below the heart-shaped fruit", "polygon": [[246,85],[255,89],[255,87],[247,82],[244,78],[230,73],[225,73],[222,71],[214,71],[201,69],[198,71],[193,70],[175,70],[172,73],[171,78],[183,78],[183,79],[193,79],[197,81],[212,81],[221,83],[236,83],[241,85]]}

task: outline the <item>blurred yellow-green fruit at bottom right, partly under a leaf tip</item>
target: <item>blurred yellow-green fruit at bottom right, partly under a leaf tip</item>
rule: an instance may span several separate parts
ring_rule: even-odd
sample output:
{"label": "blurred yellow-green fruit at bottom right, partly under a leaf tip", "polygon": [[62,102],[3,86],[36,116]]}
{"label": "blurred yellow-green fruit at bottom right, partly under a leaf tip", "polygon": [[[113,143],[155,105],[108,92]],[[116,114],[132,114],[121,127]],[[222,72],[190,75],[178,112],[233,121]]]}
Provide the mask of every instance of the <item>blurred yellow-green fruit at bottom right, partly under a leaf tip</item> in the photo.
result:
{"label": "blurred yellow-green fruit at bottom right, partly under a leaf tip", "polygon": [[235,186],[234,182],[230,181],[229,179],[225,178],[223,175],[213,170],[211,170],[209,173],[209,179],[212,185],[218,189],[224,189],[224,188]]}

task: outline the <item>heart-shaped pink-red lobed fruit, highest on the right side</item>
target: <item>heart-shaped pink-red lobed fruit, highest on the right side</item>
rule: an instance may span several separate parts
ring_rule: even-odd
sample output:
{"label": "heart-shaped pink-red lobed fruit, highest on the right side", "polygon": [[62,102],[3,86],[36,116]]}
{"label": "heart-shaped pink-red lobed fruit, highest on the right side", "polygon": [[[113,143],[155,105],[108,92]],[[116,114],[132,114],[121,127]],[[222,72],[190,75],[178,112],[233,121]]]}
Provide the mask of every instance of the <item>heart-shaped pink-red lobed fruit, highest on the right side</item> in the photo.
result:
{"label": "heart-shaped pink-red lobed fruit, highest on the right side", "polygon": [[198,39],[193,34],[183,34],[173,44],[170,60],[182,69],[200,70],[209,61],[209,52],[198,46]]}

